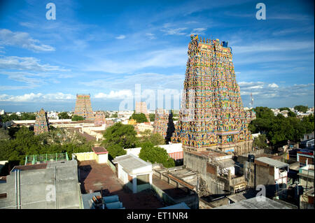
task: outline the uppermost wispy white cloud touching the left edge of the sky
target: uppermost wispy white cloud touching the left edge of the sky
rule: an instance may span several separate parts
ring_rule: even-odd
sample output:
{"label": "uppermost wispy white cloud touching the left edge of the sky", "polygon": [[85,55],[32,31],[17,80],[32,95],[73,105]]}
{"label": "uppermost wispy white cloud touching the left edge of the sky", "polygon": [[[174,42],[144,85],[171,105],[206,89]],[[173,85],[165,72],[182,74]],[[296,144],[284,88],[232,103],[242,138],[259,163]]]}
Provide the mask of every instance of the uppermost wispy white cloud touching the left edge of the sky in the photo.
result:
{"label": "uppermost wispy white cloud touching the left edge of the sky", "polygon": [[50,45],[42,44],[40,41],[31,38],[25,32],[13,32],[8,29],[0,29],[0,45],[14,45],[27,50],[39,51],[54,51]]}

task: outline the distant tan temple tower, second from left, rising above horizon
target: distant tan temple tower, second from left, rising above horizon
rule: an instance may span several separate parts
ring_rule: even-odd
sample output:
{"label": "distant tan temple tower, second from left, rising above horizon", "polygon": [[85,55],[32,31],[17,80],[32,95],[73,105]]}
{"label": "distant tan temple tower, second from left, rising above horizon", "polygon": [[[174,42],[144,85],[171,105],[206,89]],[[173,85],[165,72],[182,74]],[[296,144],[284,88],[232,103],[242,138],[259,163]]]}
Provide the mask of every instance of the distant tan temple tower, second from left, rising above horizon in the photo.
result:
{"label": "distant tan temple tower, second from left, rising above horizon", "polygon": [[76,108],[73,115],[82,116],[85,120],[94,120],[90,94],[76,94]]}

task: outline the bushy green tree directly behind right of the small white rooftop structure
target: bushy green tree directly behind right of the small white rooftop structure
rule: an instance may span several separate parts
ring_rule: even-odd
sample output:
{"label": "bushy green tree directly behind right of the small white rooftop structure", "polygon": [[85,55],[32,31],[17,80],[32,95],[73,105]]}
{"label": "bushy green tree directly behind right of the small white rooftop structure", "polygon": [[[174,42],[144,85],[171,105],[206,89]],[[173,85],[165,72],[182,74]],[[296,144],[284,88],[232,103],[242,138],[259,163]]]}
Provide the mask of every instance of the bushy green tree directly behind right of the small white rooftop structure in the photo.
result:
{"label": "bushy green tree directly behind right of the small white rooftop structure", "polygon": [[169,157],[165,149],[154,146],[150,142],[141,144],[139,158],[143,159],[144,161],[149,161],[152,164],[154,164],[155,162],[158,164],[163,164],[163,166],[165,166],[166,168],[175,166],[174,159]]}

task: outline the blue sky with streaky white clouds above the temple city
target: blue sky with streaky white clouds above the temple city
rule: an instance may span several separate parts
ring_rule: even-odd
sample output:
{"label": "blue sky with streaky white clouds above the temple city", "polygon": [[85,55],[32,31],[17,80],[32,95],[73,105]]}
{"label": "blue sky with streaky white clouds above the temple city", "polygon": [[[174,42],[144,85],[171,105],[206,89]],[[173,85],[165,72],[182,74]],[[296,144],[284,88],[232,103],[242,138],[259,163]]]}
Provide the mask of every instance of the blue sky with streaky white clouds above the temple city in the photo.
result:
{"label": "blue sky with streaky white clouds above the temple city", "polygon": [[0,109],[73,110],[82,93],[118,110],[136,84],[180,93],[190,34],[229,42],[244,106],[251,93],[254,106],[314,106],[312,1],[29,0],[0,3]]}

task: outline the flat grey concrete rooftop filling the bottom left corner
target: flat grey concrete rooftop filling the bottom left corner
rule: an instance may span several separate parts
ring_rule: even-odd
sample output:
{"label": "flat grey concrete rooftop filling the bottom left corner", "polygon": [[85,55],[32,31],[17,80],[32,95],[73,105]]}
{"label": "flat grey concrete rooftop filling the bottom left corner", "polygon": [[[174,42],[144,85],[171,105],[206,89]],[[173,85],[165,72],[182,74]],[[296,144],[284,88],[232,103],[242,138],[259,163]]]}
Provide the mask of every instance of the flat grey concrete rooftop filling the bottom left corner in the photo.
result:
{"label": "flat grey concrete rooftop filling the bottom left corner", "polygon": [[[56,162],[51,168],[11,172],[6,183],[0,185],[0,193],[7,194],[6,199],[0,200],[0,208],[80,208],[77,162]],[[16,194],[20,194],[20,201],[16,201]]]}

